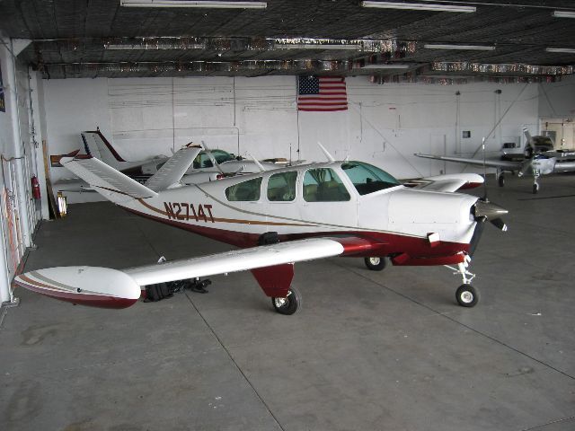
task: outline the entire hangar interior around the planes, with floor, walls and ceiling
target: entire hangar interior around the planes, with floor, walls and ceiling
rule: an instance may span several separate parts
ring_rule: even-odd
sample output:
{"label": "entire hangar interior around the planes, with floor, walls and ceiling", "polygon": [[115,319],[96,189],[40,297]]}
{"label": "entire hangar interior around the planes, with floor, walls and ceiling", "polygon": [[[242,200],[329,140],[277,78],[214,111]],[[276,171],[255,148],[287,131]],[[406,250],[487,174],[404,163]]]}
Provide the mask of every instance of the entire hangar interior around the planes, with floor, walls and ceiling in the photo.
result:
{"label": "entire hangar interior around the planes, with floor, walls and ceiling", "polygon": [[[444,268],[376,273],[347,258],[296,265],[294,316],[270,312],[247,273],[121,312],[12,283],[23,270],[229,249],[97,193],[66,194],[68,216],[50,221],[50,182],[71,176],[50,156],[83,149],[85,130],[128,161],[190,142],[323,161],[321,142],[398,179],[482,172],[413,154],[481,157],[486,137],[497,156],[525,148],[524,128],[575,147],[571,1],[135,3],[0,3],[0,427],[575,426],[569,174],[542,177],[535,197],[530,180],[500,188],[488,170],[509,232],[485,229],[473,309],[457,307]],[[312,75],[343,77],[347,109],[298,110],[298,80]]]}

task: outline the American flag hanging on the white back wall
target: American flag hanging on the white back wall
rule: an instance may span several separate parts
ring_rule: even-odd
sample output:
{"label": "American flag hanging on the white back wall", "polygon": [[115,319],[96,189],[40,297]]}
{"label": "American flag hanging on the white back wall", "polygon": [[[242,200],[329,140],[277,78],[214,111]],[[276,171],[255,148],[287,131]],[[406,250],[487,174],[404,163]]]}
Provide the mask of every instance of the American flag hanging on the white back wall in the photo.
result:
{"label": "American flag hanging on the white back wall", "polygon": [[297,110],[347,110],[348,94],[341,76],[299,76]]}

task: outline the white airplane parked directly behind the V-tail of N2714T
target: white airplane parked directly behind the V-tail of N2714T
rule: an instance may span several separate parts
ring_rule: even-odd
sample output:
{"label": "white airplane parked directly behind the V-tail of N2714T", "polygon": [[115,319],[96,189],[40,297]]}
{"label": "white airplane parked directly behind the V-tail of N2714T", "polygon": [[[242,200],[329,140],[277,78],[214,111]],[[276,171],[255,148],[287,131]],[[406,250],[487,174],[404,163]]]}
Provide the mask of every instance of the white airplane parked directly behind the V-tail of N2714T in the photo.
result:
{"label": "white airplane parked directly behind the V-tail of N2714T", "polygon": [[[80,135],[84,142],[85,154],[102,160],[103,163],[139,182],[145,182],[149,179],[169,159],[165,155],[157,155],[146,160],[129,162],[103,136],[99,128],[94,131],[84,131]],[[181,182],[184,184],[219,180],[238,173],[270,171],[282,167],[276,163],[238,158],[223,150],[209,150],[205,143],[202,145],[204,151],[199,152],[189,169],[181,177]],[[63,155],[63,157],[65,156]],[[93,191],[85,181],[78,179],[58,180],[54,183],[54,189],[73,192]]]}

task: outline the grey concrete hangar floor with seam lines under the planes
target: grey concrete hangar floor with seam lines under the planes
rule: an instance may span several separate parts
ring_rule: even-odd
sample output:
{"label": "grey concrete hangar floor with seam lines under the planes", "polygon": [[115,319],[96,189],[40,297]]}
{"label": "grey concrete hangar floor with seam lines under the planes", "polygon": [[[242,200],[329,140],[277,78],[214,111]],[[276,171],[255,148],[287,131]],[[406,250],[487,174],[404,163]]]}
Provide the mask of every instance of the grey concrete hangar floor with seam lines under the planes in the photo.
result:
{"label": "grey concrete hangar floor with seam lines under the planes", "polygon": [[[485,229],[473,309],[446,268],[362,259],[297,264],[293,316],[250,273],[120,311],[18,288],[0,329],[0,428],[573,430],[575,177],[542,184],[491,188],[509,232]],[[35,242],[26,270],[228,249],[109,203],[71,206]]]}

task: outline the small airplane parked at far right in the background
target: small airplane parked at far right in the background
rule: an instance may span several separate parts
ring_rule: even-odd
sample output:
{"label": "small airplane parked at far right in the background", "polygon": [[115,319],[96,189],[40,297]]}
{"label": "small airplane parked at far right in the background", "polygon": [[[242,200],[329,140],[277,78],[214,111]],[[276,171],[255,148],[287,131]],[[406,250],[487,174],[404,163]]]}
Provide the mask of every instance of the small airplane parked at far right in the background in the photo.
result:
{"label": "small airplane parked at far right in the background", "polygon": [[415,154],[418,157],[444,160],[446,162],[466,163],[476,166],[495,168],[495,176],[500,187],[505,184],[503,172],[517,172],[519,177],[526,173],[533,175],[533,192],[539,191],[541,175],[559,172],[575,172],[575,150],[554,150],[549,136],[531,136],[524,128],[526,148],[523,154],[503,154],[499,159],[473,159],[447,155]]}

